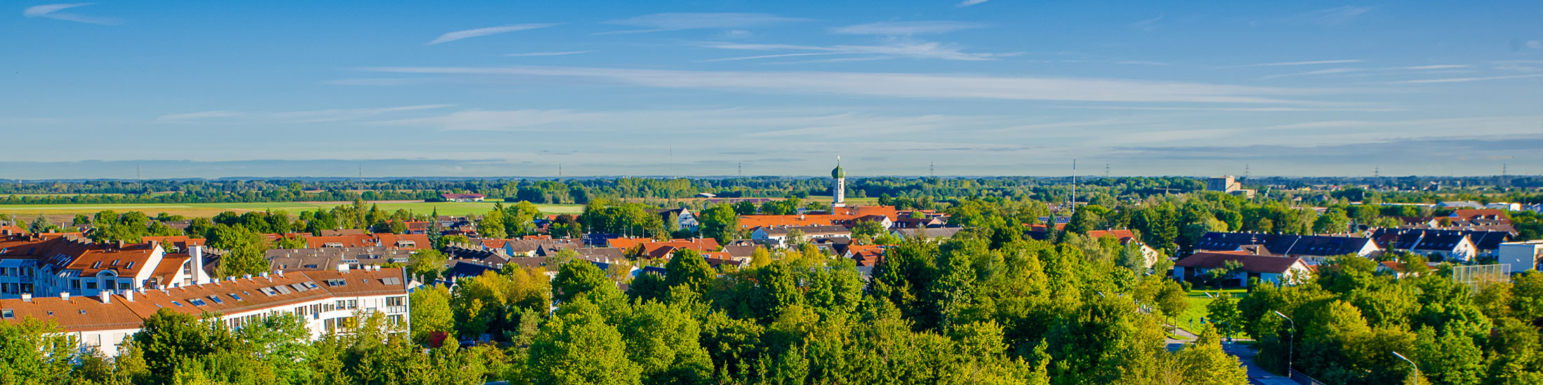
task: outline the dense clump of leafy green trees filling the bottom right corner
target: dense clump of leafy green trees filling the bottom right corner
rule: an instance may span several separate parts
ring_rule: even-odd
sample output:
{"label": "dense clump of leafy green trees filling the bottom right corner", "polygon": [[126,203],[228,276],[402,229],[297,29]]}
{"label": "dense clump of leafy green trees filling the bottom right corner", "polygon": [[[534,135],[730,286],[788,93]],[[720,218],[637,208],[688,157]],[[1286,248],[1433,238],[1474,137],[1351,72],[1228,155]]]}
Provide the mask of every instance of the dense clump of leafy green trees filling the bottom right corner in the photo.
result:
{"label": "dense clump of leafy green trees filling the bottom right corner", "polygon": [[1344,257],[1321,265],[1308,283],[1262,285],[1211,319],[1230,319],[1258,339],[1262,367],[1284,373],[1290,362],[1327,383],[1409,383],[1412,368],[1393,351],[1429,383],[1543,383],[1543,274],[1474,290],[1454,283],[1450,266],[1407,262],[1398,277]]}

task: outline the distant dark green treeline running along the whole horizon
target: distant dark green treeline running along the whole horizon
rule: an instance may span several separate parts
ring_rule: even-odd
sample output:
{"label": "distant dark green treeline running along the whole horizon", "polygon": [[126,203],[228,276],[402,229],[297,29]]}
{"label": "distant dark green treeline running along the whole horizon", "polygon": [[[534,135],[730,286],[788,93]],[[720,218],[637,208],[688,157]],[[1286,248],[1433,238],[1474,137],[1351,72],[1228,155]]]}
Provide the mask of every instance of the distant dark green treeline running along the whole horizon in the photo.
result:
{"label": "distant dark green treeline running along the whole horizon", "polygon": [[[1437,203],[1443,200],[1543,203],[1543,196],[1514,188],[1543,186],[1540,177],[1517,177],[1497,185],[1475,185],[1466,179],[1410,177],[1386,185],[1364,179],[1245,179],[1245,188],[1264,197],[1302,197],[1305,202],[1349,199],[1350,202]],[[1429,182],[1441,189],[1423,191]],[[1460,183],[1461,182],[1461,183]],[[1370,185],[1396,191],[1335,188]],[[1406,186],[1407,185],[1407,186]],[[1298,191],[1298,188],[1327,189]],[[1477,188],[1475,188],[1477,186]],[[1146,199],[1173,192],[1204,191],[1205,180],[1194,177],[1086,177],[1077,180],[1077,200],[1097,197],[1117,200]],[[562,179],[562,180],[88,180],[0,183],[0,205],[39,203],[227,203],[227,202],[350,202],[350,200],[432,200],[441,192],[477,192],[494,200],[532,203],[586,203],[591,199],[685,199],[699,192],[719,197],[809,197],[829,196],[829,179],[810,177],[734,177],[734,179]],[[1069,177],[864,177],[850,179],[849,197],[969,199],[1032,197],[1042,202],[1068,202]]]}

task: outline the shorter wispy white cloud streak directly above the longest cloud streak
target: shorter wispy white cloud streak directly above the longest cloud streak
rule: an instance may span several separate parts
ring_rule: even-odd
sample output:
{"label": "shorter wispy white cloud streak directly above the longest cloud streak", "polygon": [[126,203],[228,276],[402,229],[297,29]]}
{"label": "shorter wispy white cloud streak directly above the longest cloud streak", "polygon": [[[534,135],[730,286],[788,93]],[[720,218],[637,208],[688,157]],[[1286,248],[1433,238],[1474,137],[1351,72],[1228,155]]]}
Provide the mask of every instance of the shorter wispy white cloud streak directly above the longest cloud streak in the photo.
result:
{"label": "shorter wispy white cloud streak directly above the longest cloud streak", "polygon": [[802,45],[753,45],[753,43],[707,43],[705,46],[721,48],[721,49],[745,49],[745,51],[812,51],[812,52],[793,52],[793,54],[725,57],[725,59],[711,59],[705,62],[756,60],[756,59],[772,59],[772,57],[796,57],[796,55],[861,55],[869,60],[907,57],[907,59],[978,62],[978,60],[997,60],[1001,57],[1018,55],[1017,52],[1009,52],[1009,54],[963,52],[958,46],[932,43],[932,42],[927,43],[900,42],[881,46],[856,46],[856,45],[802,46]]}

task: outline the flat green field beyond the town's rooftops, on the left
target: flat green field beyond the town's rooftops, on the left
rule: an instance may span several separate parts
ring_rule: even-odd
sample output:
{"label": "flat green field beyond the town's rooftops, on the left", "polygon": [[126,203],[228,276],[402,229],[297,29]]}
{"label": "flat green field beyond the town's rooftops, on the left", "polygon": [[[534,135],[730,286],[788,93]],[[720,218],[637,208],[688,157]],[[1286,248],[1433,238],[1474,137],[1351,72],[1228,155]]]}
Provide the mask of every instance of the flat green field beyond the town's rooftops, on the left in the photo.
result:
{"label": "flat green field beyond the town's rooftops, on the left", "polygon": [[[466,214],[483,214],[492,209],[495,202],[468,202],[468,203],[452,203],[452,202],[372,202],[380,205],[384,211],[407,209],[415,214],[429,214],[435,209],[440,216],[466,216]],[[32,220],[39,214],[48,216],[49,220],[59,222],[60,219],[68,220],[76,214],[94,214],[97,211],[111,209],[119,213],[139,211],[150,216],[157,213],[167,213],[173,216],[184,217],[213,217],[222,211],[264,211],[264,209],[284,209],[290,214],[298,214],[299,211],[310,211],[316,208],[333,208],[344,205],[344,202],[268,202],[268,203],[102,203],[102,205],[0,205],[0,214],[12,214],[25,220]],[[535,205],[542,213],[548,214],[577,214],[583,211],[582,205]]]}

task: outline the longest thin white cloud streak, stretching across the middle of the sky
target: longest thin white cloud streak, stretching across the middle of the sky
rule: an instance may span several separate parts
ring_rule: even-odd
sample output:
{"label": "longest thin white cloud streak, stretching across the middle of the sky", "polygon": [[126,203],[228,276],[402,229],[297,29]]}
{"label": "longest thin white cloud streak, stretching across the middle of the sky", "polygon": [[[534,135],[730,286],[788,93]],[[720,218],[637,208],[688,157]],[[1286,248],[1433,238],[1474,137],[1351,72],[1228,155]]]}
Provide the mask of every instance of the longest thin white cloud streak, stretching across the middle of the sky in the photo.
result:
{"label": "longest thin white cloud streak, stretching across the middle of the sky", "polygon": [[565,66],[375,66],[360,68],[360,71],[398,74],[577,77],[653,88],[910,99],[1322,105],[1319,102],[1282,100],[1264,95],[1344,92],[1339,89],[1261,88],[1125,79],[994,77],[896,72],[750,72]]}

